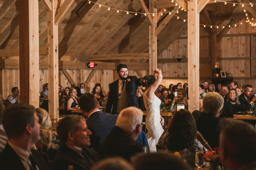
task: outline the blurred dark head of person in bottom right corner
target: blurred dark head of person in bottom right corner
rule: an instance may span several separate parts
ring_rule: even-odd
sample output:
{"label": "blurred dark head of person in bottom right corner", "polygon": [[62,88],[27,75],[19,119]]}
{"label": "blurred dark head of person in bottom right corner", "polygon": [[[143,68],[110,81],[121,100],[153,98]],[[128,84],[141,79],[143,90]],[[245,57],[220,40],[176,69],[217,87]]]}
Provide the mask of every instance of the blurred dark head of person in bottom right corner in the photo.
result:
{"label": "blurred dark head of person in bottom right corner", "polygon": [[228,170],[255,170],[254,126],[238,120],[223,122],[220,133],[220,161]]}

